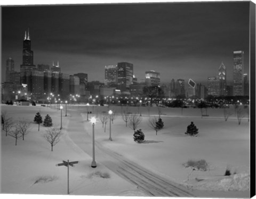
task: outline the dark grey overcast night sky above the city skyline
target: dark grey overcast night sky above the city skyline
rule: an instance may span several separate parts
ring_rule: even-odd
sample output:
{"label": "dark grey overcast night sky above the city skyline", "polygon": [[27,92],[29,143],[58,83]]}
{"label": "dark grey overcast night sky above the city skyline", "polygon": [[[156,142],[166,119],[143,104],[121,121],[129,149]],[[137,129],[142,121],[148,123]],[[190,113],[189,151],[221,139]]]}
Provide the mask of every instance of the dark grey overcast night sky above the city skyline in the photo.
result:
{"label": "dark grey overcast night sky above the city skyline", "polygon": [[249,73],[249,2],[4,6],[2,67],[12,57],[20,70],[27,28],[34,64],[59,61],[63,73],[89,81],[103,81],[104,66],[118,62],[133,63],[139,80],[160,72],[161,82],[205,82],[223,62],[230,81],[239,50]]}

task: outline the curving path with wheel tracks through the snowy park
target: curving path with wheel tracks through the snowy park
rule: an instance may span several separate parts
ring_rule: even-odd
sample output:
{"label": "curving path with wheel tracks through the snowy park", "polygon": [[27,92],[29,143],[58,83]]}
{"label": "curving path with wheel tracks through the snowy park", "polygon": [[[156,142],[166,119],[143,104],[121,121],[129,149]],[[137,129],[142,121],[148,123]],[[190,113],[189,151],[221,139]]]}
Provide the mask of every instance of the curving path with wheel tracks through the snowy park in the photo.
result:
{"label": "curving path with wheel tracks through the snowy park", "polygon": [[[84,152],[92,154],[92,138],[84,128],[84,122],[87,121],[83,121],[81,113],[78,111],[70,110],[69,113],[71,114],[67,129],[69,137]],[[149,196],[193,196],[186,187],[163,179],[163,177],[127,160],[124,156],[102,147],[97,142],[95,145],[96,162],[100,162],[117,175],[137,185]]]}

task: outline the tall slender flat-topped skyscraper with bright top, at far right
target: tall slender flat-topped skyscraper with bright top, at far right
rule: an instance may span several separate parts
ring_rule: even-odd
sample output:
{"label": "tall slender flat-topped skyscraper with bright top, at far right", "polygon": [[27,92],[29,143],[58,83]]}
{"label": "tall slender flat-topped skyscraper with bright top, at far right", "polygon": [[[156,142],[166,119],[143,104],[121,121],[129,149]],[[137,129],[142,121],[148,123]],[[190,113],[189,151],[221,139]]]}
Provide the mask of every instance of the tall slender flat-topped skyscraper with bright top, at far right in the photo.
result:
{"label": "tall slender flat-topped skyscraper with bright top, at far right", "polygon": [[233,95],[244,95],[243,69],[244,69],[244,52],[234,51],[234,68],[233,68]]}

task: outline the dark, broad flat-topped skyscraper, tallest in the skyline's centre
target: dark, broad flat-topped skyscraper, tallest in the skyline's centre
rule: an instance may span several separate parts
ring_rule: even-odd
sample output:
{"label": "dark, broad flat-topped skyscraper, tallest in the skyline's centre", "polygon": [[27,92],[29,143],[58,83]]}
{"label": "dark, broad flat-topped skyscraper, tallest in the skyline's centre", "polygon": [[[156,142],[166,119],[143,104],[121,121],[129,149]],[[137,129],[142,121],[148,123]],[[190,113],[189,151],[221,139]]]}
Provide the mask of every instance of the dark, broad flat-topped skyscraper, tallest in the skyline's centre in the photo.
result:
{"label": "dark, broad flat-topped skyscraper, tallest in the skyline's centre", "polygon": [[129,90],[133,79],[133,64],[128,62],[117,63],[117,84],[122,92]]}

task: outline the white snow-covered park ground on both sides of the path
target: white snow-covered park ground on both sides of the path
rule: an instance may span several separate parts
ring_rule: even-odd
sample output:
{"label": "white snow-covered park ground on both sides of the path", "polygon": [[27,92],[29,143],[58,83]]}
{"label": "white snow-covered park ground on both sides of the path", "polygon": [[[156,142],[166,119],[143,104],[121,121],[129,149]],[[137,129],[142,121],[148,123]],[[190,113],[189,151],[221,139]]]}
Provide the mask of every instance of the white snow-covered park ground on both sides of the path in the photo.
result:
{"label": "white snow-covered park ground on both sides of the path", "polygon": [[[87,121],[87,109],[98,116],[95,124],[95,142],[118,155],[139,164],[159,176],[168,178],[186,186],[198,197],[249,197],[250,196],[250,128],[246,111],[241,125],[238,125],[233,112],[228,121],[223,118],[222,109],[208,109],[209,117],[201,118],[199,109],[162,108],[161,118],[164,128],[157,135],[148,125],[149,118],[158,117],[157,107],[128,107],[130,113],[141,113],[142,122],[138,129],[145,134],[145,142],[133,141],[133,130],[125,126],[121,112],[126,107],[86,107],[68,106],[68,117],[62,111],[62,136],[53,147],[43,138],[46,127],[31,124],[25,140],[15,140],[1,133],[1,192],[20,194],[67,194],[67,168],[57,167],[62,160],[79,161],[70,168],[70,194],[73,195],[113,195],[147,196],[137,186],[109,170],[101,162],[91,168],[91,153],[79,147],[68,129],[70,129],[71,111],[81,113],[81,137],[92,135],[92,125]],[[100,121],[101,114],[109,109],[116,116],[111,123],[109,138],[109,120],[105,129]],[[36,112],[52,117],[53,125],[60,127],[60,111],[56,107],[43,106],[1,106],[13,120],[21,118],[34,120]],[[78,121],[78,122],[79,122]],[[197,137],[185,135],[187,126],[193,121],[199,129]],[[73,128],[73,127],[72,127]],[[77,134],[79,136],[79,134]],[[74,136],[73,136],[74,137]],[[95,152],[97,160],[97,151]],[[205,160],[207,171],[193,171],[183,166],[189,160]],[[230,176],[224,176],[226,168]]]}

